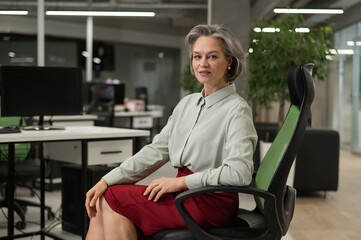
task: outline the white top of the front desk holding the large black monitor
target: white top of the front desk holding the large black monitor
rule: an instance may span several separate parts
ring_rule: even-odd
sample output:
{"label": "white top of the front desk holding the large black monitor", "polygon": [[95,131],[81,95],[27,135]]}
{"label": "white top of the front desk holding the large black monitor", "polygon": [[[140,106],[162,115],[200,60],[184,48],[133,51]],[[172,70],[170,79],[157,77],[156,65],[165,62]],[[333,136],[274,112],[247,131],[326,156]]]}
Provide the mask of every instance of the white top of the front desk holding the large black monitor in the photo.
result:
{"label": "white top of the front desk holding the large black monitor", "polygon": [[149,136],[147,130],[95,127],[95,126],[69,126],[65,130],[26,131],[21,133],[0,134],[0,143],[35,142],[56,140],[81,140],[104,138],[131,138]]}

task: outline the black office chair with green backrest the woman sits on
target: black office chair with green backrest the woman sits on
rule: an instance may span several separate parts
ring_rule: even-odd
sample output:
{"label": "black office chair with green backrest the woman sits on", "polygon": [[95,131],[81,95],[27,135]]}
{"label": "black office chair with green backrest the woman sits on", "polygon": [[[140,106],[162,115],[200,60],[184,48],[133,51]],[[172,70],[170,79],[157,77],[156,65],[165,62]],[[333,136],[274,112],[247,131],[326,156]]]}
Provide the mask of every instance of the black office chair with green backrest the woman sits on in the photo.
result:
{"label": "black office chair with green backrest the woman sits on", "polygon": [[[269,151],[254,174],[251,186],[214,186],[188,190],[179,194],[175,205],[188,229],[169,229],[152,239],[281,239],[293,217],[296,190],[286,186],[287,177],[302,143],[314,99],[313,64],[292,68],[288,73],[291,106]],[[186,199],[210,192],[240,192],[256,200],[253,211],[239,209],[232,226],[201,228],[184,207]],[[215,209],[217,211],[217,209]]]}

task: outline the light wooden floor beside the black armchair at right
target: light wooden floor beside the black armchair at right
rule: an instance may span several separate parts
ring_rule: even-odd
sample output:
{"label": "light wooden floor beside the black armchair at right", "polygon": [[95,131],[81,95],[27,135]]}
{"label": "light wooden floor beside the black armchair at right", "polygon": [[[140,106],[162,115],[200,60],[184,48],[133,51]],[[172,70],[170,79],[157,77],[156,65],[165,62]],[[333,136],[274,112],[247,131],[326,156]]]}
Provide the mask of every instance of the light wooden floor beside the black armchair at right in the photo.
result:
{"label": "light wooden floor beside the black armchair at right", "polygon": [[297,197],[289,233],[295,240],[361,239],[361,157],[340,152],[337,192]]}

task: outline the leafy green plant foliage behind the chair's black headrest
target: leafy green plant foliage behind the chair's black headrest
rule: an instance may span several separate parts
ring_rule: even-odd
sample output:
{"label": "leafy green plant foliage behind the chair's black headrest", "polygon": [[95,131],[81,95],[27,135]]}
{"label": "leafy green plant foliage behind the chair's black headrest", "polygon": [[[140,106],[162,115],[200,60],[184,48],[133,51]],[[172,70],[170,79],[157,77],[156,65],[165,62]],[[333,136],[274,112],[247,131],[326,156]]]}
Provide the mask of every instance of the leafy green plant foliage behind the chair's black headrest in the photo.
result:
{"label": "leafy green plant foliage behind the chair's black headrest", "polygon": [[[315,64],[313,76],[324,80],[327,76],[327,55],[331,42],[331,27],[311,29],[308,33],[296,31],[304,18],[289,14],[272,21],[256,20],[250,31],[247,94],[253,107],[270,109],[279,103],[278,124],[284,119],[285,101],[289,99],[287,73],[291,67],[304,62]],[[257,28],[255,28],[257,27]],[[275,32],[264,32],[264,28]],[[263,31],[262,31],[263,30]],[[270,30],[270,29],[268,29]]]}

